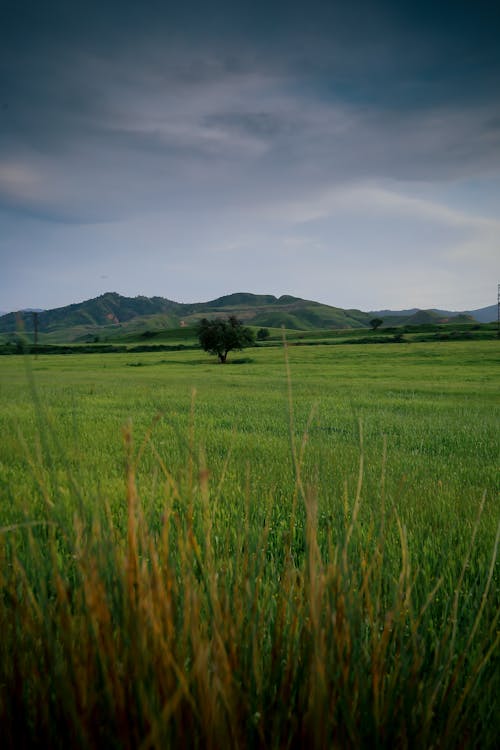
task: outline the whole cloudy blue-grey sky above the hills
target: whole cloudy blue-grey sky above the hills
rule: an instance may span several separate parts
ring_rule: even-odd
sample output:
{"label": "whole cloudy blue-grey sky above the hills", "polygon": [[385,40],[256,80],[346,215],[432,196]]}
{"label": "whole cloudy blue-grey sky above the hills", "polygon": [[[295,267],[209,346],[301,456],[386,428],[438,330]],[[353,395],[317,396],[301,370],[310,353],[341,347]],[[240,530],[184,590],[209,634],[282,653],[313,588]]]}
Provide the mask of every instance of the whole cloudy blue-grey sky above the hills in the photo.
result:
{"label": "whole cloudy blue-grey sky above the hills", "polygon": [[500,282],[500,6],[0,0],[0,310]]}

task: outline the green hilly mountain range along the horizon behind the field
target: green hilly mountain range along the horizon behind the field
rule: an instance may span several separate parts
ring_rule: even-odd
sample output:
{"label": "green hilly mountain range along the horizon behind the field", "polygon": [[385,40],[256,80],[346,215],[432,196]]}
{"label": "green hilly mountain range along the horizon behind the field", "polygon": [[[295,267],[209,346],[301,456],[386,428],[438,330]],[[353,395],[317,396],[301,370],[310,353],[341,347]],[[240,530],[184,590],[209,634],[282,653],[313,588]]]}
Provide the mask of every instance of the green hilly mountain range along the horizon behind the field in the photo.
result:
{"label": "green hilly mountain range along the horizon behind the field", "polygon": [[[53,310],[24,310],[0,317],[0,334],[12,334],[20,320],[26,332],[33,331],[35,315],[44,339],[84,341],[90,336],[114,333],[144,334],[195,325],[201,318],[236,315],[248,325],[269,328],[285,326],[295,330],[369,328],[380,317],[387,324],[490,322],[496,319],[496,305],[467,312],[447,310],[344,310],[299,297],[240,292],[209,302],[182,303],[164,297],[123,297],[107,292],[94,299]],[[389,318],[390,320],[386,320]]]}

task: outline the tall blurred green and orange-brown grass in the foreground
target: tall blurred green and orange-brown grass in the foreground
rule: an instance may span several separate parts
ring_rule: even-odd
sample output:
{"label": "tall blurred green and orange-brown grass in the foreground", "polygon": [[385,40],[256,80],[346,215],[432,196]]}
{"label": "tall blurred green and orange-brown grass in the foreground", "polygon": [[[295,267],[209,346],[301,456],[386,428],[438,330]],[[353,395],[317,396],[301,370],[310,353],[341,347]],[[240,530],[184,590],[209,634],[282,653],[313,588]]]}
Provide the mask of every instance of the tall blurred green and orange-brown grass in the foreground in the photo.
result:
{"label": "tall blurred green and orange-brown grass in the foreground", "polygon": [[[356,483],[321,524],[294,433],[290,408],[280,525],[251,468],[228,507],[230,457],[214,483],[193,429],[178,476],[151,432],[135,448],[125,429],[125,529],[40,471],[44,512],[0,529],[4,747],[495,747],[499,534],[485,563],[484,498],[463,559],[413,559],[387,462],[367,496],[361,439]],[[146,454],[159,519],[137,489]]]}

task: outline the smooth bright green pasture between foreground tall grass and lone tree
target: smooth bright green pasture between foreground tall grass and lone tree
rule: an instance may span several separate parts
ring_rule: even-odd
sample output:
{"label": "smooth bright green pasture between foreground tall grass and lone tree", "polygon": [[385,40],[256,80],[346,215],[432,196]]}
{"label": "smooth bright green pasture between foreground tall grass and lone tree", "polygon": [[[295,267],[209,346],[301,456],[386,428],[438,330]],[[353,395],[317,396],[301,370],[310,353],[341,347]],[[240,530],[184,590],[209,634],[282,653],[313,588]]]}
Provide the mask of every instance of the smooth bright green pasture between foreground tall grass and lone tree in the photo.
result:
{"label": "smooth bright green pasture between foreground tall grass and lone tree", "polygon": [[228,502],[249,474],[256,500],[286,504],[289,386],[293,436],[307,433],[303,471],[325,513],[357,481],[361,436],[367,496],[377,496],[385,452],[387,488],[423,539],[466,534],[484,491],[498,509],[497,342],[289,346],[288,359],[290,378],[278,348],[232,353],[225,366],[201,352],[2,358],[2,516],[32,508],[42,468],[51,491],[64,494],[70,476],[88,502],[118,509],[129,422],[138,446],[148,435],[146,507],[161,504],[157,457],[177,477],[200,449],[213,483],[225,466]]}

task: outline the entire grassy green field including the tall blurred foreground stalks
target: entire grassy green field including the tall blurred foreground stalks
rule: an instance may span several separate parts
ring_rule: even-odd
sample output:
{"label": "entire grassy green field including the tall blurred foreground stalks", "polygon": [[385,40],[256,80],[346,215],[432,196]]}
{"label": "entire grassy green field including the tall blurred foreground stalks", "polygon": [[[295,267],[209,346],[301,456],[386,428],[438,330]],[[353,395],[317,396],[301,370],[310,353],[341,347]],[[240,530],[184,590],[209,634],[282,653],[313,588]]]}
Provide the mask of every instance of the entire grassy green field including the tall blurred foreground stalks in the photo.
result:
{"label": "entire grassy green field including the tall blurred foreground stalks", "polygon": [[498,362],[0,358],[7,746],[494,747]]}

